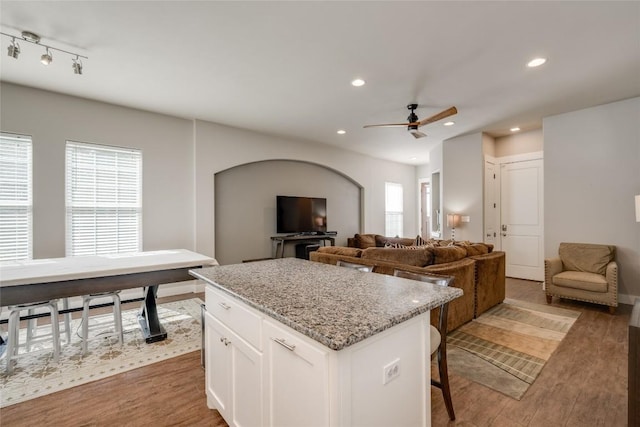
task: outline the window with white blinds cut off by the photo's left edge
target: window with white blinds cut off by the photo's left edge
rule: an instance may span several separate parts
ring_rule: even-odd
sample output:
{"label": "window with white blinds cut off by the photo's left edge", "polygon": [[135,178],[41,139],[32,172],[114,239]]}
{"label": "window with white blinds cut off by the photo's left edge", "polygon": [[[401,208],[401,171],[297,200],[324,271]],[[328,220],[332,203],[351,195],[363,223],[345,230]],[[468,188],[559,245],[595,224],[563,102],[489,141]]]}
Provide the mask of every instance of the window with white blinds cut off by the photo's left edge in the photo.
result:
{"label": "window with white blinds cut off by the photo's left edge", "polygon": [[0,134],[0,261],[31,259],[31,137]]}

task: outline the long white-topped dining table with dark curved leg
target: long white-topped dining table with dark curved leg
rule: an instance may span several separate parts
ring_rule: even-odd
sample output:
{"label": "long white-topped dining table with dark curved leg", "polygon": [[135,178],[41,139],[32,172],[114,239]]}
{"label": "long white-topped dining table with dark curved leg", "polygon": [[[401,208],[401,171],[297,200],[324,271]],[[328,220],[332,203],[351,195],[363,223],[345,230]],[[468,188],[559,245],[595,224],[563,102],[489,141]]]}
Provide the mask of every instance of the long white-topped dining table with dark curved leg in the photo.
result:
{"label": "long white-topped dining table with dark curved leg", "polygon": [[0,263],[0,306],[144,288],[138,320],[147,343],[166,339],[156,307],[158,286],[193,280],[189,270],[216,265],[186,249]]}

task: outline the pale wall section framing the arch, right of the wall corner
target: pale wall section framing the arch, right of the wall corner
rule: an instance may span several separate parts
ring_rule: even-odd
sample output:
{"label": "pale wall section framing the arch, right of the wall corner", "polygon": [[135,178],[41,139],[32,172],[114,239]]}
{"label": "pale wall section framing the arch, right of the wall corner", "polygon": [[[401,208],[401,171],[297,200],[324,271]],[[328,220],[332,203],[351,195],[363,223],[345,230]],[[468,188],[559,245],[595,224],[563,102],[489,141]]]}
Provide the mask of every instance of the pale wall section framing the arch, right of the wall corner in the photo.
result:
{"label": "pale wall section framing the arch, right of the wall corner", "polygon": [[196,121],[196,251],[215,256],[214,175],[234,166],[262,160],[301,160],[350,177],[364,188],[362,232],[384,234],[384,183],[404,188],[404,234],[417,235],[415,167],[387,162],[330,145],[303,143]]}

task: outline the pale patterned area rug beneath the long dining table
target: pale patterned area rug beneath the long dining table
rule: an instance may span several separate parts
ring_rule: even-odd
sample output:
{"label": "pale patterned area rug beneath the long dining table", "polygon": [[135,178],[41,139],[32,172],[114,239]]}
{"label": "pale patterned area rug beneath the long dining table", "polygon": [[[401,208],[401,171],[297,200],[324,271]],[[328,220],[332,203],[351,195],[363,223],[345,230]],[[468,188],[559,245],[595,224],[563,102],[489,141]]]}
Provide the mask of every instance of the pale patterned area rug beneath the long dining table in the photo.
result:
{"label": "pale patterned area rug beneath the long dining table", "polygon": [[[71,343],[61,339],[58,363],[52,360],[51,340],[36,344],[31,352],[18,357],[11,375],[6,374],[5,355],[0,358],[0,407],[24,402],[91,381],[106,378],[141,366],[170,359],[181,354],[199,351],[201,347],[200,301],[197,298],[158,305],[160,323],[167,331],[167,339],[147,344],[138,324],[138,309],[122,312],[124,345],[115,337],[100,337],[100,329],[89,333],[89,352],[81,357],[80,319],[71,322]],[[113,316],[91,316],[91,325],[108,322]],[[61,326],[62,327],[62,326]],[[43,333],[50,327],[43,325]],[[104,329],[103,329],[104,331]],[[113,332],[113,328],[111,328]],[[24,341],[24,330],[20,331]],[[94,337],[94,339],[92,339]],[[21,349],[21,352],[24,349]]]}

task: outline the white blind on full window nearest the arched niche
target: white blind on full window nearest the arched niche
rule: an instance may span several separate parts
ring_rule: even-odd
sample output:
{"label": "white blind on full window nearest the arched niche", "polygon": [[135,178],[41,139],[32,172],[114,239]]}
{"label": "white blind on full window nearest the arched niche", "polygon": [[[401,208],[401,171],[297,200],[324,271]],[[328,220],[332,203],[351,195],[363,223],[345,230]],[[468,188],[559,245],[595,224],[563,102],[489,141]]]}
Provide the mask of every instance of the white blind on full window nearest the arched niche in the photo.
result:
{"label": "white blind on full window nearest the arched niche", "polygon": [[142,153],[67,141],[67,256],[142,248]]}

